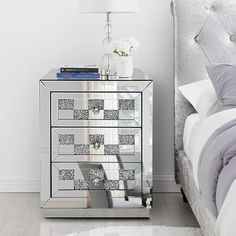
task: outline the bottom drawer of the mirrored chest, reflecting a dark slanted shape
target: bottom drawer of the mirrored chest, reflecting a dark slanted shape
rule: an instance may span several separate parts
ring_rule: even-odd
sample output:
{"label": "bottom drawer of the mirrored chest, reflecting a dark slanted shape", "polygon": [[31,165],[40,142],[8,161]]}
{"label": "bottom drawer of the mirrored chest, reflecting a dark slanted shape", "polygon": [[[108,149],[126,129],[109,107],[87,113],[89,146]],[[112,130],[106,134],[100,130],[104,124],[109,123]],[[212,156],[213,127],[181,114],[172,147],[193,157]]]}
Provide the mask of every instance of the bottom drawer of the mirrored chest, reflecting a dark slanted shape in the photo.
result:
{"label": "bottom drawer of the mirrored chest, reflecting a dark slanted shape", "polygon": [[140,198],[141,180],[140,163],[52,163],[52,197],[77,198],[81,207],[110,208]]}

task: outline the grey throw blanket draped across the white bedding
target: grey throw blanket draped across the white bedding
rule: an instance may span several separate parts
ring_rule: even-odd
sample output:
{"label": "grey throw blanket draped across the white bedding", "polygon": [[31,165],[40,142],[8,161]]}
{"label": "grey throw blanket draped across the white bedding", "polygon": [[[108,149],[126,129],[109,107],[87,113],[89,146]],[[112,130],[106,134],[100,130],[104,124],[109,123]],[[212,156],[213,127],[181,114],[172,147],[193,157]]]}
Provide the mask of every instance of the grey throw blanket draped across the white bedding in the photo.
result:
{"label": "grey throw blanket draped across the white bedding", "polygon": [[198,166],[200,193],[217,216],[236,179],[236,119],[216,130],[205,144]]}

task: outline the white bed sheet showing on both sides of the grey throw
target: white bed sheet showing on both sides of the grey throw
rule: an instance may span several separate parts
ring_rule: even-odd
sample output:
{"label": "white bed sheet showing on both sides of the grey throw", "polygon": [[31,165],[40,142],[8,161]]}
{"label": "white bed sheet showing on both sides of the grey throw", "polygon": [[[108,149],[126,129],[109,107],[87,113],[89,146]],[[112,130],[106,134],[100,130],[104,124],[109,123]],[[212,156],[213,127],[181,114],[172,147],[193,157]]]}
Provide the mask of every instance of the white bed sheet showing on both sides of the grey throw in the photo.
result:
{"label": "white bed sheet showing on both sides of the grey throw", "polygon": [[[236,119],[236,108],[216,113],[207,119],[198,120],[197,114],[190,115],[184,130],[184,151],[190,159],[194,179],[198,187],[198,164],[201,151],[208,138],[222,125]],[[217,236],[236,235],[236,180],[231,185],[216,221]]]}

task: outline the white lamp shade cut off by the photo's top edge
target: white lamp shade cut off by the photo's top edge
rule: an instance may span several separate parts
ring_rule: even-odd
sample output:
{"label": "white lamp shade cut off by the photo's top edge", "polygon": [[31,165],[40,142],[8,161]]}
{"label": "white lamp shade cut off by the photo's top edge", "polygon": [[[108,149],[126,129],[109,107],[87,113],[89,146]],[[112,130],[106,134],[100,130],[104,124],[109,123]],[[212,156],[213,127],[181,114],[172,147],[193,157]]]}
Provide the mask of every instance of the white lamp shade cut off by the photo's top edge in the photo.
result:
{"label": "white lamp shade cut off by the photo's top edge", "polygon": [[78,0],[80,13],[135,13],[138,0]]}

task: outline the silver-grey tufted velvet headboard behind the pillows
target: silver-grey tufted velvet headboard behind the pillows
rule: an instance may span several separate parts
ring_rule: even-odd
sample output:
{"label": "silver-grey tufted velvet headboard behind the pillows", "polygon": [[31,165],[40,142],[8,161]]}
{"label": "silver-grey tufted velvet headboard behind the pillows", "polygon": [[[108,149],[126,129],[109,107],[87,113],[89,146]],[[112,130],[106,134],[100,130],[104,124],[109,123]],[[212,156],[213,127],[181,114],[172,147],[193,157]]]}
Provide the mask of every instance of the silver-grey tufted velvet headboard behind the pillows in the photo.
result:
{"label": "silver-grey tufted velvet headboard behind the pillows", "polygon": [[[207,78],[206,65],[236,62],[236,0],[173,0],[175,160],[183,150],[184,122],[194,112],[177,87]],[[177,163],[177,162],[176,162]],[[176,165],[176,180],[178,182]]]}

